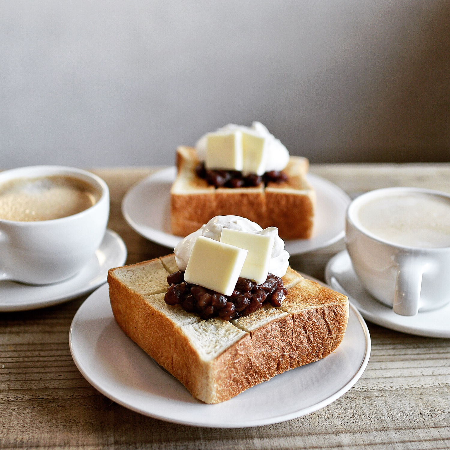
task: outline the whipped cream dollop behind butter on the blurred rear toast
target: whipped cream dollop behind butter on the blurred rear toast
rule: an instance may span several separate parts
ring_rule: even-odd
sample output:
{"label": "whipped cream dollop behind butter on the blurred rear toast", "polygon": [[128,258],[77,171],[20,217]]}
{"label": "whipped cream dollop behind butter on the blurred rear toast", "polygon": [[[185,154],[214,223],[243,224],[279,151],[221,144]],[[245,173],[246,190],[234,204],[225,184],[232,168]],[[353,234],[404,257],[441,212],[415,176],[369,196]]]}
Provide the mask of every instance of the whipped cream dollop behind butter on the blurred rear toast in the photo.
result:
{"label": "whipped cream dollop behind butter on the blurred rear toast", "polygon": [[[281,143],[279,139],[276,139],[274,135],[271,135],[269,130],[267,130],[267,128],[261,122],[253,122],[252,126],[235,125],[234,123],[229,123],[222,128],[218,128],[216,131],[233,132],[236,130],[245,131],[246,133],[250,133],[266,139],[268,146],[266,172],[270,172],[273,170],[282,171],[288,165],[288,149]],[[204,161],[206,157],[207,135],[208,133],[206,135],[203,135],[200,139],[198,139],[197,144],[195,144],[197,156],[200,161]]]}

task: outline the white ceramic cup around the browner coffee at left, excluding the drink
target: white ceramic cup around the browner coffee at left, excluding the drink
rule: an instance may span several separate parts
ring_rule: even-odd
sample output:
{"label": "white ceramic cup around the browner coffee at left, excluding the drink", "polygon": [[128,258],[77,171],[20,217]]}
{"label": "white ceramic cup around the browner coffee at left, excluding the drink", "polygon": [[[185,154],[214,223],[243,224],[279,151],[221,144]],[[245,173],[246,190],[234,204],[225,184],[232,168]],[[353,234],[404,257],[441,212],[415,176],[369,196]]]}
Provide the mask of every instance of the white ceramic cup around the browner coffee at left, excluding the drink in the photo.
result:
{"label": "white ceramic cup around the browner coffee at left, excluding the drink", "polygon": [[65,175],[98,190],[99,200],[72,216],[52,220],[0,219],[0,279],[50,284],[75,275],[99,248],[109,216],[108,185],[97,175],[64,166],[31,166],[0,173],[0,184]]}

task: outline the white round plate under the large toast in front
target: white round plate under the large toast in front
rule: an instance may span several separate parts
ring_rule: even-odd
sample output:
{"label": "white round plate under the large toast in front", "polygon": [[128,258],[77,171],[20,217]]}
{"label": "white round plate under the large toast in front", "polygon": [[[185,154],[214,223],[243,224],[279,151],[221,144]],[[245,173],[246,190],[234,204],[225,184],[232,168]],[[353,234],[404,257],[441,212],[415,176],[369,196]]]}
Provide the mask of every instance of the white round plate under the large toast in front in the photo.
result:
{"label": "white round plate under the large toast in front", "polygon": [[156,419],[214,428],[255,427],[319,410],[356,383],[370,356],[369,330],[351,306],[344,339],[332,354],[207,405],[123,333],[112,315],[107,284],[80,306],[69,344],[81,374],[111,400]]}

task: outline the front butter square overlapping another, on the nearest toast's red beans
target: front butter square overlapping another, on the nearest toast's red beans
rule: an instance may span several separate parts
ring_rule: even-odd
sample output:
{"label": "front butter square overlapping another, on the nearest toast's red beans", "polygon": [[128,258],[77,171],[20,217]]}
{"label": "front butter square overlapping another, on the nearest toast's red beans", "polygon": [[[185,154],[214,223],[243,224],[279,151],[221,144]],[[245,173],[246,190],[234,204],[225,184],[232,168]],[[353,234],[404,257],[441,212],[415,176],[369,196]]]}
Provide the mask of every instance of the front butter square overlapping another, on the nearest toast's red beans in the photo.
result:
{"label": "front butter square overlapping another, on the nearest toast's red beans", "polygon": [[224,295],[231,295],[238,281],[247,250],[199,236],[192,248],[184,281]]}

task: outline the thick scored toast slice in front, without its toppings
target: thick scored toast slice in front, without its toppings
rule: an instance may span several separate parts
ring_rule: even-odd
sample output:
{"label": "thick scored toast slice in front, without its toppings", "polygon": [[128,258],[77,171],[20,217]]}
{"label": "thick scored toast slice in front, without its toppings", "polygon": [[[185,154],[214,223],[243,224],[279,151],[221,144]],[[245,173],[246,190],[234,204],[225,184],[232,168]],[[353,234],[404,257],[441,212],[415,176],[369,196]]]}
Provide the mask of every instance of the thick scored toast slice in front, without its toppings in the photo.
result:
{"label": "thick scored toast slice in front, without its toppings", "polygon": [[227,322],[201,320],[164,302],[168,255],[108,272],[112,312],[121,329],[199,400],[220,403],[286,370],[320,360],[341,343],[346,296],[288,268],[281,308],[264,306]]}

